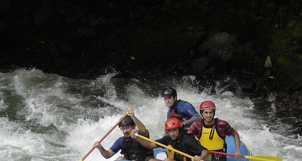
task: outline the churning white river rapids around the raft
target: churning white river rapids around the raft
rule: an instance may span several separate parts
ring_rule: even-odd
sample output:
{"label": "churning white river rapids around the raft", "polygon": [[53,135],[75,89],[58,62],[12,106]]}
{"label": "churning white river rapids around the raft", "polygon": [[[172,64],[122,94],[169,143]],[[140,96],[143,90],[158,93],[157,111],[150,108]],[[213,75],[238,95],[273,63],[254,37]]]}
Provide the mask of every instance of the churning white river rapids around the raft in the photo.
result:
{"label": "churning white river rapids around the raft", "polygon": [[[164,133],[167,107],[160,91],[176,88],[178,98],[199,110],[202,101],[216,104],[216,117],[240,134],[253,155],[302,158],[302,137],[292,126],[297,120],[276,118],[274,94],[265,100],[239,98],[231,92],[198,92],[194,75],[162,79],[116,78],[117,73],[93,80],[44,73],[38,69],[0,72],[0,159],[78,161],[126,113],[135,115],[150,131],[151,139]],[[103,141],[108,149],[122,133],[115,128]],[[85,160],[114,160],[95,149]]]}

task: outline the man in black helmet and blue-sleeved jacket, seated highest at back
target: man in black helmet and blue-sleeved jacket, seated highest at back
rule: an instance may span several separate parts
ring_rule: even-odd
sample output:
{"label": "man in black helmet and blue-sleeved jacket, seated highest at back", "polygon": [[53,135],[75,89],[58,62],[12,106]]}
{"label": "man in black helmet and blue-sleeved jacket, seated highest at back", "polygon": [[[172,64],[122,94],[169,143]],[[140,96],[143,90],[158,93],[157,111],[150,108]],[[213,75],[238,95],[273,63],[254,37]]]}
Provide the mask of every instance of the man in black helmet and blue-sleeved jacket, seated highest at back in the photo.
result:
{"label": "man in black helmet and blue-sleeved jacket, seated highest at back", "polygon": [[[167,112],[167,120],[170,118],[177,118],[180,120],[182,127],[185,131],[191,126],[191,124],[199,119],[201,116],[195,110],[192,104],[177,100],[177,92],[173,88],[166,88],[162,92],[162,97],[167,107],[169,107]],[[165,133],[166,135],[167,133]]]}

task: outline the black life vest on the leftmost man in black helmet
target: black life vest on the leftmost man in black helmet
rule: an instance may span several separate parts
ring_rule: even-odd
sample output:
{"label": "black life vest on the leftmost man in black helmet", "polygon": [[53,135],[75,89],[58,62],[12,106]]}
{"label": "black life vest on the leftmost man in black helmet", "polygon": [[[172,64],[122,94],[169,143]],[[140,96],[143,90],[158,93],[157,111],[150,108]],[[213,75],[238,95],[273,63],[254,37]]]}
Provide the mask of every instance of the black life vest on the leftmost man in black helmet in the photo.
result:
{"label": "black life vest on the leftmost man in black helmet", "polygon": [[135,139],[132,137],[125,138],[121,147],[121,154],[127,160],[136,160],[136,161],[145,161],[147,156],[153,156],[153,149],[147,149],[141,146]]}

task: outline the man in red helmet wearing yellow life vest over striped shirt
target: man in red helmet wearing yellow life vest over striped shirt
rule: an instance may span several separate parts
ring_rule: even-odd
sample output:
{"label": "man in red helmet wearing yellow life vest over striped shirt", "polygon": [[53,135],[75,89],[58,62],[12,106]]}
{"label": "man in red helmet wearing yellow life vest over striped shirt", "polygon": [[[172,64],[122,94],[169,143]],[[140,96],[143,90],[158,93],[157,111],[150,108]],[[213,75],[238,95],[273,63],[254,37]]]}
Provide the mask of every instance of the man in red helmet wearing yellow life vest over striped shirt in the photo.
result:
{"label": "man in red helmet wearing yellow life vest over striped shirt", "polygon": [[[208,150],[223,151],[225,147],[225,135],[234,136],[236,145],[235,158],[240,158],[240,138],[239,134],[230,124],[224,120],[214,119],[216,106],[212,101],[204,101],[199,107],[203,119],[195,121],[188,130],[188,133],[194,134],[201,145]],[[226,160],[225,155],[211,154],[212,160]]]}

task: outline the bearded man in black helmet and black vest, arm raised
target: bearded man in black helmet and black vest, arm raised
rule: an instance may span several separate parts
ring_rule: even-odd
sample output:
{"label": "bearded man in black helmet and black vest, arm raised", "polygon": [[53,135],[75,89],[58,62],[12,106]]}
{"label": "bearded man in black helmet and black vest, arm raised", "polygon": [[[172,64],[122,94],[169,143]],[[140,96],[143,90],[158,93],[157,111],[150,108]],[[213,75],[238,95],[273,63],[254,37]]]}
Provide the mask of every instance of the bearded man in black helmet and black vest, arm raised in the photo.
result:
{"label": "bearded man in black helmet and black vest, arm raised", "polygon": [[141,146],[135,139],[130,137],[130,132],[132,129],[139,129],[139,134],[149,138],[149,132],[145,126],[134,116],[134,110],[131,107],[127,107],[130,115],[125,117],[118,125],[122,130],[124,136],[119,137],[114,144],[105,150],[104,147],[98,143],[94,143],[94,147],[98,148],[103,157],[106,159],[112,157],[121,149],[121,154],[124,156],[119,156],[116,160],[136,160],[145,161],[154,157],[153,150],[147,149]]}

